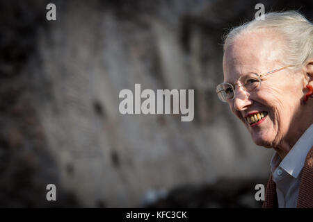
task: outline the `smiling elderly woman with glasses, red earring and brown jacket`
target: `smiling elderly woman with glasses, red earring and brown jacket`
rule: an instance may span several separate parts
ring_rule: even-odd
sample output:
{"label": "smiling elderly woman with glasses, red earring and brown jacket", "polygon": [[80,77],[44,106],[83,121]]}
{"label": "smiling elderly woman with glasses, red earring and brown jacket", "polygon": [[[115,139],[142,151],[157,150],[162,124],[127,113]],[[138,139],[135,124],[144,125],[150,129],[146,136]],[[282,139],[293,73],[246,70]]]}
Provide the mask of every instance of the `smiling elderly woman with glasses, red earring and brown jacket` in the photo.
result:
{"label": "smiling elderly woman with glasses, red earring and brown jacket", "polygon": [[263,207],[313,207],[313,24],[298,12],[271,12],[232,29],[218,98],[273,148]]}

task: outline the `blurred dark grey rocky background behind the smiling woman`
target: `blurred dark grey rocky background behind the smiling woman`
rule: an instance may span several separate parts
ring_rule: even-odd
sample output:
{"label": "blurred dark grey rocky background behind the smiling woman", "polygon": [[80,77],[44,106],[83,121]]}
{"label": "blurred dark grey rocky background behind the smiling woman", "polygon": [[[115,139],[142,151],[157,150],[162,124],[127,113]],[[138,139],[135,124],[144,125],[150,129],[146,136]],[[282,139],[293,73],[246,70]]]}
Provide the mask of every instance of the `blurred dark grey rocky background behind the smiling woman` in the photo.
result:
{"label": "blurred dark grey rocky background behind the smiling woman", "polygon": [[[313,17],[309,0],[1,1],[0,206],[259,207],[273,151],[215,93],[222,37],[257,3]],[[120,114],[135,83],[195,89],[195,119]]]}

